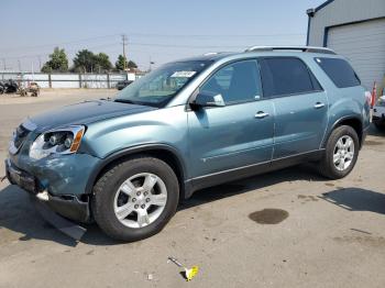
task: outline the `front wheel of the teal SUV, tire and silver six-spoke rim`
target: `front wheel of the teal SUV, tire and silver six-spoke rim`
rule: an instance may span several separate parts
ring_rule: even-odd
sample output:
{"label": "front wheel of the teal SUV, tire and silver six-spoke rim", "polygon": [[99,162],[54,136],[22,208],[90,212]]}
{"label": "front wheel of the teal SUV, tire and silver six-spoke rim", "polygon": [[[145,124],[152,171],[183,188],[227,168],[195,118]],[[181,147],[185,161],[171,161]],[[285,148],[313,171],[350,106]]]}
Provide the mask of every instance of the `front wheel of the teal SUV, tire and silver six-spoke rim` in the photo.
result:
{"label": "front wheel of the teal SUV, tire and silver six-spoke rim", "polygon": [[[150,185],[145,185],[146,180]],[[155,180],[153,188],[147,189]],[[173,169],[163,160],[144,155],[117,164],[99,178],[94,187],[91,211],[107,235],[132,242],[162,231],[175,214],[178,201],[179,185]]]}

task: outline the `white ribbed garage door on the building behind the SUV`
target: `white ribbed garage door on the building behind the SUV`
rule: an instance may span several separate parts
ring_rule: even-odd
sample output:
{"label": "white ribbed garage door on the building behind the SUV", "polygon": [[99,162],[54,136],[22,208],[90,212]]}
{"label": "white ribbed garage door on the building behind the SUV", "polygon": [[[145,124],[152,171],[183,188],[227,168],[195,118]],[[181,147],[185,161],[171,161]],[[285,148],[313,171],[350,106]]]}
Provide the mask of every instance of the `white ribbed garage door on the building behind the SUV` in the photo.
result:
{"label": "white ribbed garage door on the building behind the SUV", "polygon": [[385,19],[331,27],[328,47],[350,59],[362,84],[372,88],[385,76]]}

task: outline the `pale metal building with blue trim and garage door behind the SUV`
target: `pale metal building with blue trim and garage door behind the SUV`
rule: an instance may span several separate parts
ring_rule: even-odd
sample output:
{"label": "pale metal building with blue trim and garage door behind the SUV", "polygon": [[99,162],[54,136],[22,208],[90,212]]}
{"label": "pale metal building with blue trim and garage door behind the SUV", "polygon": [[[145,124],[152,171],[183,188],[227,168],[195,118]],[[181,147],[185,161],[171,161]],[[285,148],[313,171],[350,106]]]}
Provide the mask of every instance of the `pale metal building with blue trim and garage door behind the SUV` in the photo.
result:
{"label": "pale metal building with blue trim and garage door behind the SUV", "polygon": [[385,0],[329,0],[307,14],[307,45],[334,49],[350,59],[364,86],[384,87]]}

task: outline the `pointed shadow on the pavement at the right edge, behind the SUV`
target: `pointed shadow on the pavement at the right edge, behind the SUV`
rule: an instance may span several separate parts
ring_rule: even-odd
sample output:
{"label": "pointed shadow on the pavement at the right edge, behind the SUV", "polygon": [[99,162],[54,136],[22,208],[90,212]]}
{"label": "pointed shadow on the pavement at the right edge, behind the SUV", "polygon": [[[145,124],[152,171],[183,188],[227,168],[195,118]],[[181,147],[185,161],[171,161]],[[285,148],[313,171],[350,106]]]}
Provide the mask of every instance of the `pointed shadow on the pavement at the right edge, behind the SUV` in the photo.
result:
{"label": "pointed shadow on the pavement at the right edge, behind the SUV", "polygon": [[348,211],[369,211],[385,214],[384,193],[353,187],[327,192],[319,198]]}

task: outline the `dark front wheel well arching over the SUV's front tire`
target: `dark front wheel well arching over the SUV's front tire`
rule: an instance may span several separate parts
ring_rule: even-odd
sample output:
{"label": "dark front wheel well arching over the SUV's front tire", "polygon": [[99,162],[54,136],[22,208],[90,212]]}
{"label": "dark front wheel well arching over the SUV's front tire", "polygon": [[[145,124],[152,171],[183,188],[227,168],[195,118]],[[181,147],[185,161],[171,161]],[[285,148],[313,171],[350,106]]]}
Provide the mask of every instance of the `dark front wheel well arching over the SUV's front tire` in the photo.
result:
{"label": "dark front wheel well arching over the SUV's front tire", "polygon": [[146,149],[146,151],[139,151],[139,152],[133,152],[129,154],[124,154],[120,157],[114,158],[113,160],[109,162],[107,165],[105,165],[98,173],[97,177],[92,181],[91,187],[99,180],[99,178],[111,167],[116,166],[119,163],[125,162],[130,158],[133,158],[135,156],[151,156],[158,158],[161,160],[164,160],[166,164],[172,167],[174,170],[176,177],[178,178],[178,184],[179,184],[179,192],[180,192],[180,199],[184,199],[185,196],[185,175],[184,175],[184,167],[183,164],[180,163],[179,158],[170,151],[168,149],[162,149],[162,148],[156,148],[156,149]]}

